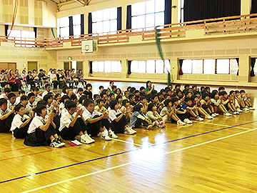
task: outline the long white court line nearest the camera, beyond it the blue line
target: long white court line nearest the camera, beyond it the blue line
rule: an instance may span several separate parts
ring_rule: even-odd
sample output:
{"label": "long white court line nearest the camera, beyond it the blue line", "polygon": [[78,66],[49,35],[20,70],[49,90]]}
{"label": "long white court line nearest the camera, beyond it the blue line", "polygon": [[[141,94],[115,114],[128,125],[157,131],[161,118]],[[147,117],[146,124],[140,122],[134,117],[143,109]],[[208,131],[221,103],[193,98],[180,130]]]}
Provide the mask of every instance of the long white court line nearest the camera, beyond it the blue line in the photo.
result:
{"label": "long white court line nearest the camera, beyond it the blue line", "polygon": [[[166,153],[164,153],[164,155],[165,155],[165,154],[172,154],[172,153],[175,153],[175,152],[181,152],[181,151],[186,150],[186,149],[191,149],[191,148],[193,148],[193,147],[198,147],[198,146],[201,146],[201,145],[204,145],[204,144],[209,144],[209,143],[212,143],[212,142],[217,142],[217,141],[220,141],[220,140],[222,140],[222,139],[227,139],[227,138],[229,138],[229,137],[234,137],[234,136],[237,136],[237,135],[240,135],[240,134],[246,134],[246,133],[248,133],[248,132],[256,131],[256,129],[257,129],[257,128],[251,129],[251,130],[247,130],[247,131],[245,131],[245,132],[240,132],[240,133],[237,133],[237,134],[231,134],[231,135],[228,135],[228,136],[226,136],[226,137],[221,137],[221,138],[218,138],[218,139],[213,139],[213,140],[211,140],[211,141],[203,142],[203,143],[201,143],[201,144],[195,144],[195,145],[192,145],[192,146],[189,146],[189,147],[184,147],[184,148],[181,148],[181,149],[176,149],[176,150],[173,150],[173,151],[171,151],[171,152],[166,152]],[[29,189],[29,190],[27,190],[27,191],[25,191],[25,192],[21,192],[21,193],[34,192],[34,191],[39,190],[39,189],[44,189],[44,188],[47,188],[47,187],[52,187],[52,186],[55,186],[55,185],[58,185],[58,184],[62,184],[62,183],[65,183],[65,182],[70,182],[70,181],[72,181],[72,180],[80,179],[80,178],[83,178],[83,177],[89,177],[89,176],[94,175],[94,174],[99,174],[99,173],[101,173],[101,172],[106,172],[106,171],[109,171],[109,170],[112,170],[112,169],[116,169],[116,168],[119,168],[119,167],[124,167],[124,166],[130,165],[130,164],[133,164],[133,163],[134,163],[134,162],[129,162],[129,163],[126,163],[126,164],[120,164],[120,165],[118,165],[118,166],[116,166],[116,167],[109,167],[109,168],[106,168],[106,169],[99,170],[99,171],[97,171],[97,172],[91,172],[91,173],[89,173],[89,174],[84,174],[84,175],[81,175],[81,176],[79,176],[79,177],[74,177],[74,178],[66,179],[66,180],[63,180],[63,181],[60,181],[60,182],[55,182],[55,183],[53,183],[53,184],[48,184],[48,185],[45,185],[45,186],[43,186],[43,187],[37,187],[37,188],[35,188],[35,189]]]}

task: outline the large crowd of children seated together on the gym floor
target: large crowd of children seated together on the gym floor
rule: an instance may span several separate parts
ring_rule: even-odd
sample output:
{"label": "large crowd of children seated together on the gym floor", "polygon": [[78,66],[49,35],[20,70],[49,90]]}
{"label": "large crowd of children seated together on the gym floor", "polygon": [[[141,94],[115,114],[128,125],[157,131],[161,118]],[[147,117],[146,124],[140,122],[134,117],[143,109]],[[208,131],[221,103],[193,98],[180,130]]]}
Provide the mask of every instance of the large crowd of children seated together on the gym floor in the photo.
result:
{"label": "large crowd of children seated together on the gym floor", "polygon": [[95,136],[111,140],[119,133],[135,134],[134,128],[192,124],[254,110],[246,91],[231,90],[228,94],[223,86],[213,91],[201,86],[199,91],[196,85],[186,84],[181,89],[176,84],[174,89],[168,85],[158,92],[147,81],[139,90],[129,86],[121,91],[110,81],[107,89],[99,86],[99,94],[93,95],[91,89],[92,85],[86,84],[86,89],[64,87],[54,94],[46,84],[41,95],[32,87],[29,93],[20,90],[16,96],[5,88],[0,95],[0,132],[11,130],[29,146],[63,147],[62,140],[91,144]]}

